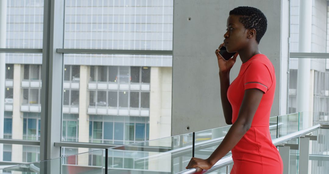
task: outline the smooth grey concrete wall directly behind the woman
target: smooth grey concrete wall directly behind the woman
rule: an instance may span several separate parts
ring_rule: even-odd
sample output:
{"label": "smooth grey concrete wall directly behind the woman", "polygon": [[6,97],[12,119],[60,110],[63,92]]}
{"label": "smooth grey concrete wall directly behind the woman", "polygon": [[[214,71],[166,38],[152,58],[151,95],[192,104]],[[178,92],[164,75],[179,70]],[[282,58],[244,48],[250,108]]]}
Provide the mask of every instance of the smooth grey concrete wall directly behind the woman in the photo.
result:
{"label": "smooth grey concrete wall directly behind the woman", "polygon": [[[281,1],[247,0],[175,0],[173,24],[173,82],[172,82],[172,135],[225,126],[221,101],[218,65],[215,49],[224,40],[229,11],[238,6],[260,9],[267,18],[267,31],[259,48],[273,63],[277,86],[271,116],[280,114],[281,63],[287,61],[288,26],[282,28]],[[188,18],[191,17],[189,21]],[[282,38],[285,37],[285,38]],[[281,60],[282,59],[282,60]],[[231,70],[231,82],[237,76],[241,60]],[[286,69],[286,68],[285,68]],[[284,76],[284,74],[283,74]],[[282,86],[287,88],[286,84]],[[283,99],[282,99],[283,97]],[[281,99],[280,99],[281,98]],[[283,104],[285,107],[285,104]],[[285,110],[285,109],[284,109]],[[284,113],[285,114],[285,113]],[[190,129],[186,130],[189,126]]]}

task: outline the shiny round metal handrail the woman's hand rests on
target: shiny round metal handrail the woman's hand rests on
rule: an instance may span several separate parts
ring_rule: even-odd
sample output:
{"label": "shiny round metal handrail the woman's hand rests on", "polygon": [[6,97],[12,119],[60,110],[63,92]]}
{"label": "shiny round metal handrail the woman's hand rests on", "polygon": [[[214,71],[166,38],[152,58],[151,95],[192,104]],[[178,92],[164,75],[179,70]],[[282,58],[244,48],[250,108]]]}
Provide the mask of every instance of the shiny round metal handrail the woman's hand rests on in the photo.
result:
{"label": "shiny round metal handrail the woman's hand rests on", "polygon": [[[276,138],[276,139],[272,140],[272,142],[273,142],[273,144],[275,146],[277,146],[279,144],[282,144],[282,143],[287,142],[289,140],[292,140],[292,139],[301,137],[301,136],[303,136],[305,134],[308,134],[308,133],[313,132],[315,130],[318,130],[320,128],[321,128],[321,125],[318,124],[316,126],[312,126],[310,128],[307,128],[307,129],[304,129],[304,130],[300,130],[300,131],[297,131],[297,132],[293,132],[291,134],[282,136],[280,138]],[[222,167],[225,167],[227,165],[230,165],[232,163],[233,163],[233,159],[232,159],[232,155],[230,155],[230,156],[227,156],[227,157],[224,157],[224,158],[220,159],[219,161],[217,161],[215,163],[215,165],[211,169],[206,170],[206,171],[204,171],[202,173],[208,173],[208,172],[211,172],[211,171],[215,171],[215,170],[218,170],[218,169],[220,169]],[[185,171],[179,172],[177,174],[193,174],[195,172],[196,172],[196,169],[195,168],[191,168],[191,169],[187,169]]]}

